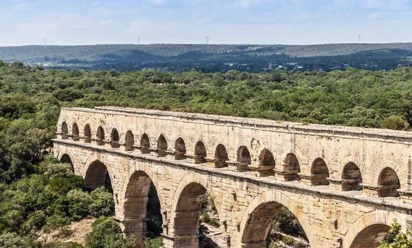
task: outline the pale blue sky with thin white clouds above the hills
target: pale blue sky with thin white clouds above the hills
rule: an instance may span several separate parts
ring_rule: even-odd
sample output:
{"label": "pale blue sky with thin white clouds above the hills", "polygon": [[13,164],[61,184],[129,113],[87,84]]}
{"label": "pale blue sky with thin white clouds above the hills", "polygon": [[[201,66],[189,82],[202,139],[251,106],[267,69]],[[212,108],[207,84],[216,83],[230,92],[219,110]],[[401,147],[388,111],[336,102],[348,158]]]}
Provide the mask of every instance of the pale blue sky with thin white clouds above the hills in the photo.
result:
{"label": "pale blue sky with thin white clouds above the hills", "polygon": [[0,46],[412,41],[412,0],[0,0]]}

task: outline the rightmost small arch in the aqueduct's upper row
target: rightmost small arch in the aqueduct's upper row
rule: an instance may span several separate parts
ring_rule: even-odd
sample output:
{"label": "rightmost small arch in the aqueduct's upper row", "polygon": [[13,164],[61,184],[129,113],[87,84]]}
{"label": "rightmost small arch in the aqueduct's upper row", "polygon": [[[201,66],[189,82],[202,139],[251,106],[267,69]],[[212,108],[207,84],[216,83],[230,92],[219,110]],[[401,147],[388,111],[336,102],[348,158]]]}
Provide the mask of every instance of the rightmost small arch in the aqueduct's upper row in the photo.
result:
{"label": "rightmost small arch in the aqueduct's upper row", "polygon": [[396,171],[390,167],[382,169],[378,179],[378,197],[398,197],[400,180]]}

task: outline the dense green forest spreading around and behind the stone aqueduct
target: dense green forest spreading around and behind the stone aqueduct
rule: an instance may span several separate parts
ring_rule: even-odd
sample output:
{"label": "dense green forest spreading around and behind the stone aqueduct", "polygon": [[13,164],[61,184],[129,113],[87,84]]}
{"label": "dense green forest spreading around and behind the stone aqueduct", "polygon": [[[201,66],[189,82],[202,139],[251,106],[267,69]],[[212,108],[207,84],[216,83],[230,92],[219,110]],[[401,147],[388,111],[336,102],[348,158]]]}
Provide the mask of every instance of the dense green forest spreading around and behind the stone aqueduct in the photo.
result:
{"label": "dense green forest spreading around and behind the stone aqueduct", "polygon": [[[45,70],[0,61],[0,247],[82,247],[45,243],[38,232],[58,230],[64,236],[71,221],[93,217],[101,218],[93,222],[85,247],[134,246],[133,236],[123,238],[109,217],[114,208],[109,190],[89,192],[70,164],[47,155],[61,107],[122,106],[409,130],[411,89],[411,67],[174,74]],[[282,212],[274,228],[304,238],[290,219]]]}

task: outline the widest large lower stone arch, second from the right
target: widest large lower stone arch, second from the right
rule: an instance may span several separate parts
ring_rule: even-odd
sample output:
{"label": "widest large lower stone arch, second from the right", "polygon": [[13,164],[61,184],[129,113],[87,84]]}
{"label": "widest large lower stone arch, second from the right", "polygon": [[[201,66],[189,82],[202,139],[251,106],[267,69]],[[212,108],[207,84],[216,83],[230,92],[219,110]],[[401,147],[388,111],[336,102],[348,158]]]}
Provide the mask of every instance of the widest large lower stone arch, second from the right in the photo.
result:
{"label": "widest large lower stone arch, second from the right", "polygon": [[235,247],[266,247],[266,238],[273,225],[273,219],[282,206],[296,216],[310,244],[314,247],[316,243],[312,237],[310,218],[305,216],[301,208],[298,208],[297,203],[281,191],[275,190],[260,193],[251,201],[240,221]]}

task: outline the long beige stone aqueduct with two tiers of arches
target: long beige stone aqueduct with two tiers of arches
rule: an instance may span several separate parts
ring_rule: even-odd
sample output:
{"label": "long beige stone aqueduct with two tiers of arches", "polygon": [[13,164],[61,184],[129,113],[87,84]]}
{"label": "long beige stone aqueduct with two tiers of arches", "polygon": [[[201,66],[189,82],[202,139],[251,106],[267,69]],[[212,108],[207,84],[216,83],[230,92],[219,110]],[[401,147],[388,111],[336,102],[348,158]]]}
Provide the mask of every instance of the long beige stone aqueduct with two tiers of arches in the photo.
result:
{"label": "long beige stone aqueduct with two tiers of arches", "polygon": [[55,156],[93,189],[113,187],[116,218],[146,235],[152,182],[165,247],[198,247],[201,197],[216,203],[225,247],[266,247],[279,208],[312,247],[377,247],[412,227],[412,135],[128,108],[63,108]]}

